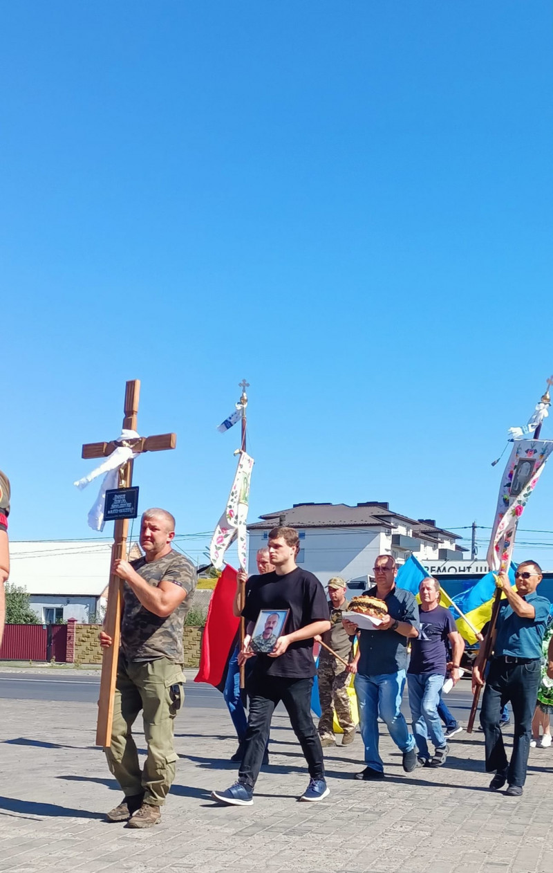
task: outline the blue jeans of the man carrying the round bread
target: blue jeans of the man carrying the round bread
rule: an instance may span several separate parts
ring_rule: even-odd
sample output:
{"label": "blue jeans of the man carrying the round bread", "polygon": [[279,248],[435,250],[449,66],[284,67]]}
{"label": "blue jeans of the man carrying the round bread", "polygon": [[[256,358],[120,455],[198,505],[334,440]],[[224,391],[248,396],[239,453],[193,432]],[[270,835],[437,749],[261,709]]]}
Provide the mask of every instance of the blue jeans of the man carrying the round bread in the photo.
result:
{"label": "blue jeans of the man carrying the round bread", "polygon": [[355,677],[359,729],[365,745],[365,764],[380,773],[384,772],[384,765],[379,755],[379,712],[393,742],[401,752],[412,752],[415,747],[413,734],[409,733],[406,720],[400,711],[405,679],[405,670],[382,673],[379,676],[361,676],[358,673]]}

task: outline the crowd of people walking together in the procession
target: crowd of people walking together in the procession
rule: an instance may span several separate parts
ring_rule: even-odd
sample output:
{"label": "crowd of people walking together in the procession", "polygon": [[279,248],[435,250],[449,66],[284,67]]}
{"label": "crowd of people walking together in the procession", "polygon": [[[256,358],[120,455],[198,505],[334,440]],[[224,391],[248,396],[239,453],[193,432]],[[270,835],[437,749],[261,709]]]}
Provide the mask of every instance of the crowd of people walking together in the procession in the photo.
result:
{"label": "crowd of people walking together in the procession", "polygon": [[[9,498],[9,483],[0,474],[0,581],[9,573]],[[196,574],[188,558],[174,551],[173,539],[171,513],[147,510],[140,525],[143,556],[118,560],[114,566],[125,585],[113,732],[106,758],[124,798],[107,813],[107,820],[124,821],[129,828],[149,828],[160,821],[175,775],[174,718],[183,700],[183,626]],[[460,679],[464,642],[453,615],[440,606],[438,581],[427,577],[420,582],[418,604],[413,594],[396,585],[393,557],[379,555],[372,571],[374,585],[365,594],[386,608],[369,629],[359,626],[349,611],[345,580],[334,577],[325,592],[315,575],[297,566],[298,549],[297,531],[276,527],[268,547],[257,554],[258,574],[249,579],[238,574],[233,610],[245,619],[246,633],[242,644],[236,639],[224,686],[238,737],[232,758],[238,778],[228,788],[213,791],[213,799],[221,804],[253,803],[261,767],[269,762],[271,718],[281,702],[307,764],[310,780],[299,798],[306,802],[330,793],[323,749],[335,745],[336,732],[344,746],[355,740],[357,712],[365,766],[352,773],[356,780],[385,778],[379,719],[399,748],[406,773],[443,766],[447,739],[462,730],[441,695],[446,677],[450,684]],[[530,746],[551,744],[553,628],[548,629],[550,602],[536,593],[540,581],[542,571],[532,560],[517,567],[515,587],[507,576],[497,577],[504,599],[495,628],[488,630],[491,658],[486,665],[481,645],[472,671],[473,690],[485,684],[481,728],[485,768],[494,773],[489,788],[498,791],[507,785],[510,796],[522,794]],[[0,606],[3,627],[3,601]],[[113,639],[102,631],[100,643],[109,647]],[[238,681],[242,665],[247,711]],[[321,706],[317,726],[311,714],[316,676]],[[401,711],[406,685],[411,727]],[[507,705],[514,721],[510,760],[501,730],[509,719]],[[140,711],[147,743],[142,767],[132,732]]]}

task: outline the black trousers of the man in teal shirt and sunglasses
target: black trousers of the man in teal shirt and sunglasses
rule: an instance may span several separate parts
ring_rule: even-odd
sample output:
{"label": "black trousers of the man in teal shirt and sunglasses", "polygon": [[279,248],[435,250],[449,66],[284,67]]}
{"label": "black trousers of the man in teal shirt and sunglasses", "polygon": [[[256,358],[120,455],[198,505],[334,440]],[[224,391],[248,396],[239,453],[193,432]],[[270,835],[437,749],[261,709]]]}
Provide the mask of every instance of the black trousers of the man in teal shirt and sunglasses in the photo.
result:
{"label": "black trousers of the man in teal shirt and sunglasses", "polygon": [[[507,663],[503,658],[494,658],[490,664],[480,713],[480,723],[486,739],[486,770],[488,773],[503,773],[509,785],[522,787],[526,780],[532,716],[536,709],[539,684],[539,658],[529,663]],[[499,726],[502,706],[509,701],[515,719],[510,762],[507,760]]]}

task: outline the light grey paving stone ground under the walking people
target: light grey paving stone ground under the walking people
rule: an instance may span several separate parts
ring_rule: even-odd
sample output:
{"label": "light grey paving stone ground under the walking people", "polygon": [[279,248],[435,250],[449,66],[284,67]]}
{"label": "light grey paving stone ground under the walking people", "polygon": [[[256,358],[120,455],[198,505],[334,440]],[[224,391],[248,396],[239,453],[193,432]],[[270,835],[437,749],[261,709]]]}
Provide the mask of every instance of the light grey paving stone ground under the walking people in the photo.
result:
{"label": "light grey paving stone ground under the walking people", "polygon": [[229,716],[185,705],[162,821],[133,831],[103,821],[120,794],[94,746],[94,705],[3,699],[2,712],[0,873],[553,870],[553,749],[531,750],[525,793],[511,799],[487,789],[481,734],[455,737],[446,766],[407,775],[382,726],[386,780],[352,780],[362,766],[357,737],[324,750],[330,796],[298,803],[308,781],[304,759],[277,711],[254,806],[224,808],[209,793],[235,780]]}

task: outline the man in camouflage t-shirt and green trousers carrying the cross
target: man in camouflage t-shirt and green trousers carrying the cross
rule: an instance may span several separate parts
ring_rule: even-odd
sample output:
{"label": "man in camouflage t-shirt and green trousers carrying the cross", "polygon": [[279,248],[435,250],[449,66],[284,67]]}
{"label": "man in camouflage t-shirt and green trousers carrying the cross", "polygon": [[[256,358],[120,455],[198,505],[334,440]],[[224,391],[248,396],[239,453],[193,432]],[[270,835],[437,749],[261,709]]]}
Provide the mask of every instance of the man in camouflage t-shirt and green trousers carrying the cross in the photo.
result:
{"label": "man in camouflage t-shirt and green trousers carrying the cross", "polygon": [[[174,780],[174,717],[185,681],[182,634],[196,574],[188,558],[171,548],[173,538],[173,516],[149,509],[140,526],[145,556],[115,564],[125,587],[112,745],[105,751],[125,798],[106,817],[127,821],[128,828],[149,828],[160,821],[160,807]],[[102,631],[100,643],[111,645],[111,637]],[[147,743],[143,771],[131,732],[140,710]]]}

